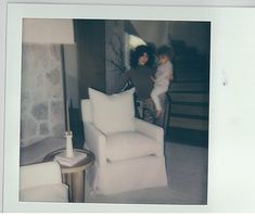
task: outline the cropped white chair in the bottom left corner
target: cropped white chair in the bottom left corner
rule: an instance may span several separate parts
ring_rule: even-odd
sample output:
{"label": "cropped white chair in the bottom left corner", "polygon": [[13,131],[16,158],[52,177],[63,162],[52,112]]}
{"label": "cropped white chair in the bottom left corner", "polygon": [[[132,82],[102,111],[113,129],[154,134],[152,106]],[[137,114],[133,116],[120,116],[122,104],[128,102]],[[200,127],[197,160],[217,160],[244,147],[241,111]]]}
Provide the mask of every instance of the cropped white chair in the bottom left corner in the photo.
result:
{"label": "cropped white chair in the bottom left corner", "polygon": [[20,201],[68,202],[68,187],[62,183],[56,162],[21,166]]}

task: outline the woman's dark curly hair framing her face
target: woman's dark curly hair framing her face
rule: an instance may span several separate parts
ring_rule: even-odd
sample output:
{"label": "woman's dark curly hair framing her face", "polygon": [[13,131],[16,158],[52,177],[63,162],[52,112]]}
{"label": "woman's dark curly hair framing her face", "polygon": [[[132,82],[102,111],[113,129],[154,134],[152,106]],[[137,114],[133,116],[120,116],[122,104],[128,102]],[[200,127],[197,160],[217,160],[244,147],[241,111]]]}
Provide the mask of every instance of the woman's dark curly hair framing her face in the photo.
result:
{"label": "woman's dark curly hair framing her face", "polygon": [[143,53],[148,54],[148,62],[146,62],[146,66],[153,67],[155,64],[155,49],[146,46],[146,45],[141,45],[138,46],[135,50],[130,51],[130,67],[137,67],[138,66],[138,61],[139,58],[143,55]]}

